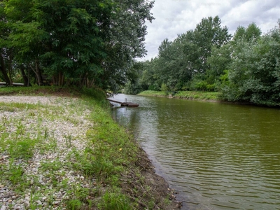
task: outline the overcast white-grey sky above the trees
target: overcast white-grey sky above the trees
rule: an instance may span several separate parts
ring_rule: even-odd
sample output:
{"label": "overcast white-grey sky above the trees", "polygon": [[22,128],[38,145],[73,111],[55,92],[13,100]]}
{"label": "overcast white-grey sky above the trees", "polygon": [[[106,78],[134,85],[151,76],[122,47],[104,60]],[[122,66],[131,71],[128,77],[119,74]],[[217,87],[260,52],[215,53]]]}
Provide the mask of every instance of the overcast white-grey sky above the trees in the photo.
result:
{"label": "overcast white-grey sky above the trees", "polygon": [[280,18],[279,0],[155,0],[152,23],[147,22],[146,57],[158,55],[160,43],[168,38],[173,41],[178,34],[195,29],[202,18],[218,15],[222,26],[227,26],[230,34],[235,34],[239,25],[250,23],[260,27],[262,34],[277,25]]}

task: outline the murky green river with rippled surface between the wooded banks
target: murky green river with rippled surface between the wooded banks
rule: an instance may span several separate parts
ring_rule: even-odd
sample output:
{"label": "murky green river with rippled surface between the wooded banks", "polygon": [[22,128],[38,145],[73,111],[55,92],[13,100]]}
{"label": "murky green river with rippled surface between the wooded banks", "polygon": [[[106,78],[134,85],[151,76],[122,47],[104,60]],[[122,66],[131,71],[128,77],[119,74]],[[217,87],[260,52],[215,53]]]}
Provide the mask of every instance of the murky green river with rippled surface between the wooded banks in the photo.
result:
{"label": "murky green river with rippled surface between the wooded banks", "polygon": [[182,209],[280,209],[280,110],[118,94],[134,132]]}

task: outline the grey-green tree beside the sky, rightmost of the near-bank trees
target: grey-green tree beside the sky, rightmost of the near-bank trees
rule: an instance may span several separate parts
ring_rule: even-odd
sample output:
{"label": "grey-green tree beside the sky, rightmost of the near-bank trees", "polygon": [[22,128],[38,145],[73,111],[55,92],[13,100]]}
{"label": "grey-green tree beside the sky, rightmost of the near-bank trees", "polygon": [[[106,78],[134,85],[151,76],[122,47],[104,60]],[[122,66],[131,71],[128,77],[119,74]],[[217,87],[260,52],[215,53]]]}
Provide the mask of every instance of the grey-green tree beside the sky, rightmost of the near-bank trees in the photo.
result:
{"label": "grey-green tree beside the sky, rightmost of the near-bank trees", "polygon": [[143,57],[145,35],[147,33],[146,21],[154,18],[150,14],[153,1],[114,1],[113,15],[106,33],[106,56],[102,67],[102,81],[104,87],[111,87],[112,82],[124,85],[130,80],[130,70],[133,69],[134,59]]}

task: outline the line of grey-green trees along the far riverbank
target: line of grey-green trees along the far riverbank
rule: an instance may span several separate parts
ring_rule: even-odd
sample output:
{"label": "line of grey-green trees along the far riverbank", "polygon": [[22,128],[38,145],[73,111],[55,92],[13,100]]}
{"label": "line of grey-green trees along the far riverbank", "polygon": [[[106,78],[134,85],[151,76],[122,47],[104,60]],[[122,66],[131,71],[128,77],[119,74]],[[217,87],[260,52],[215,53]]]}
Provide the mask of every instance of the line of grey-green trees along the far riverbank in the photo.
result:
{"label": "line of grey-green trees along the far riverbank", "polygon": [[218,91],[228,101],[280,104],[280,22],[262,35],[251,23],[232,36],[216,16],[202,19],[194,30],[165,39],[158,57],[134,64],[139,73],[125,86],[142,90]]}

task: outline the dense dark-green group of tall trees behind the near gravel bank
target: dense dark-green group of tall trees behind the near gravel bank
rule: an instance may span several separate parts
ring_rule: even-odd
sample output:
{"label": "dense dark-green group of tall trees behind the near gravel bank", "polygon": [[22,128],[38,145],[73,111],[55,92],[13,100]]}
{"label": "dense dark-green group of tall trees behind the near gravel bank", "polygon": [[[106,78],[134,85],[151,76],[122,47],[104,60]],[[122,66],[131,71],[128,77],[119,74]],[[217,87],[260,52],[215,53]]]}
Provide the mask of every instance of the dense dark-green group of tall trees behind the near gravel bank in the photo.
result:
{"label": "dense dark-green group of tall trees behind the near gravel bank", "polygon": [[145,53],[146,0],[0,2],[0,81],[116,91]]}

